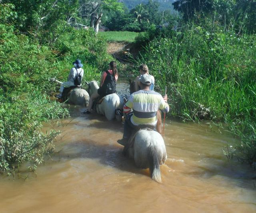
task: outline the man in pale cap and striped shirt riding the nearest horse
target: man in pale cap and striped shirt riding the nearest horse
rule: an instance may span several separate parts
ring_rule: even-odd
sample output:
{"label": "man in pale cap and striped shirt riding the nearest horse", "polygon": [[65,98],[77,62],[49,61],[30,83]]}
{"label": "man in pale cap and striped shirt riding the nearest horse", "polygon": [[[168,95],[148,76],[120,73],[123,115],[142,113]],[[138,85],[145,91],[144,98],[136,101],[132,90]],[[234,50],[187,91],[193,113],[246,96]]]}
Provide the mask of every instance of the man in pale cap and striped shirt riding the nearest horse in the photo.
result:
{"label": "man in pale cap and striped shirt riding the nearest horse", "polygon": [[140,78],[141,90],[134,92],[128,98],[124,105],[124,113],[129,113],[131,109],[133,113],[126,116],[124,122],[124,135],[122,139],[117,142],[125,145],[132,129],[138,125],[151,125],[156,126],[157,118],[156,112],[158,109],[164,112],[169,111],[167,104],[167,95],[162,97],[159,93],[150,90],[151,78],[148,75],[143,75]]}

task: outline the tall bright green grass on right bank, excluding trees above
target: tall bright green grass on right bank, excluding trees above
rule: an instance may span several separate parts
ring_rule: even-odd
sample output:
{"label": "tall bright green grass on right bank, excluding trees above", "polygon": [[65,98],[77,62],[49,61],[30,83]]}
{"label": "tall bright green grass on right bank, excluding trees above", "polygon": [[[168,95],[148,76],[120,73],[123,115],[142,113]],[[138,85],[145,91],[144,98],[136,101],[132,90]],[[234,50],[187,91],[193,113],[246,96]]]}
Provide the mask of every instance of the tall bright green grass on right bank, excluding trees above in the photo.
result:
{"label": "tall bright green grass on right bank, excluding trees above", "polygon": [[241,138],[233,154],[256,162],[255,35],[190,28],[152,40],[136,63],[148,65],[159,92],[167,86],[172,115],[224,121]]}

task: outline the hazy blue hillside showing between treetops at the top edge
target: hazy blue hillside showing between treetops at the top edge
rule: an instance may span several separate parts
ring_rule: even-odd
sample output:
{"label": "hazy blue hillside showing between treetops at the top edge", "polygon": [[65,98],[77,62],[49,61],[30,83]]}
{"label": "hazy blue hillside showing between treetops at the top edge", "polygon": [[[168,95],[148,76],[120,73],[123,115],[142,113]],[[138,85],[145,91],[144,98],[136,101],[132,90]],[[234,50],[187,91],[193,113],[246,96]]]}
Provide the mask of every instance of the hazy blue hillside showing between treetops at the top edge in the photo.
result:
{"label": "hazy blue hillside showing between treetops at the top edge", "polygon": [[[154,0],[153,0],[154,1]],[[174,10],[172,3],[175,2],[176,0],[155,0],[160,3],[159,9],[162,10]],[[144,3],[146,4],[148,0],[118,0],[118,2],[124,3],[127,8],[130,10],[134,8],[136,5]]]}

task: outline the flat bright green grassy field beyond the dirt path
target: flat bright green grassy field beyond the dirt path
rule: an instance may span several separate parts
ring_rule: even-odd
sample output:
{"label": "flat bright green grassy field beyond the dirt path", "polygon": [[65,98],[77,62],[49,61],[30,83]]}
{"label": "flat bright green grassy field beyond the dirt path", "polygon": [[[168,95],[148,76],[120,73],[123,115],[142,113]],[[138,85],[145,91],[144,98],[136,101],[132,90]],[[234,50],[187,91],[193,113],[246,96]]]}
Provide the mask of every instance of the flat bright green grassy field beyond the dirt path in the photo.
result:
{"label": "flat bright green grassy field beyond the dirt path", "polygon": [[138,36],[138,34],[138,32],[128,31],[99,32],[99,35],[106,38],[108,42],[134,42],[134,38]]}

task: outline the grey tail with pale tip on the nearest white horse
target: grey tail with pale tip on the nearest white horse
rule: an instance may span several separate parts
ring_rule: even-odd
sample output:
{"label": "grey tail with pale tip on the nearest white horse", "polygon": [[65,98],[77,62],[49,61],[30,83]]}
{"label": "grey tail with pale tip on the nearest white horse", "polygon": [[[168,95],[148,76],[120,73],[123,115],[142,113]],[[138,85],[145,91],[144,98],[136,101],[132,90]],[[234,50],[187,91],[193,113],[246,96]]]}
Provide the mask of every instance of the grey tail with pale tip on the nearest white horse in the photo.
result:
{"label": "grey tail with pale tip on the nearest white horse", "polygon": [[159,164],[160,159],[156,147],[153,144],[150,144],[150,146],[148,147],[148,161],[152,180],[161,183],[162,179]]}

